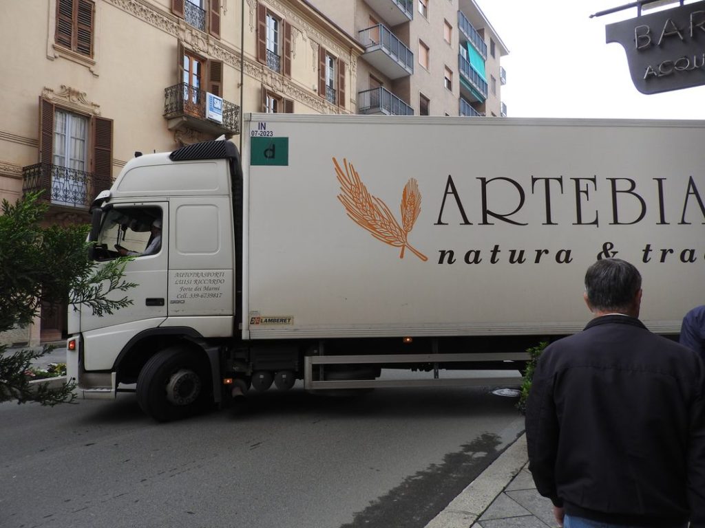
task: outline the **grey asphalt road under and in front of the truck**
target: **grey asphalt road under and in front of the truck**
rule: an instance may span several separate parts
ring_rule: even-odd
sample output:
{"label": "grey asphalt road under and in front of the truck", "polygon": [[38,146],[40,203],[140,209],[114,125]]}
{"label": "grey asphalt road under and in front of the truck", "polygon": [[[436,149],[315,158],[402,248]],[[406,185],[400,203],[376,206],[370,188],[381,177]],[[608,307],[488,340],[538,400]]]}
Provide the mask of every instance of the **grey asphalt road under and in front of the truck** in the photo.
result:
{"label": "grey asphalt road under and in front of the truck", "polygon": [[0,527],[423,528],[523,430],[496,387],[296,386],[157,424],[133,394],[0,405]]}

